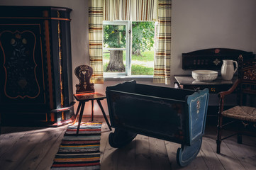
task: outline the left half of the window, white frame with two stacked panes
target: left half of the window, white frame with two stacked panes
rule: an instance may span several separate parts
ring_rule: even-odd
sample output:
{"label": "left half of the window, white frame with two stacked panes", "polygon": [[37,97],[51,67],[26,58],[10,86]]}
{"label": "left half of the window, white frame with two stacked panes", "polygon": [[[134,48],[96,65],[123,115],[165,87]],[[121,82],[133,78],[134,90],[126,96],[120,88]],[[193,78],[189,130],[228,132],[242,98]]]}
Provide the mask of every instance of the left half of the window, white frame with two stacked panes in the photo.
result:
{"label": "left half of the window, white frame with two stacked panes", "polygon": [[103,59],[104,73],[128,75],[130,73],[130,38],[128,21],[104,21]]}

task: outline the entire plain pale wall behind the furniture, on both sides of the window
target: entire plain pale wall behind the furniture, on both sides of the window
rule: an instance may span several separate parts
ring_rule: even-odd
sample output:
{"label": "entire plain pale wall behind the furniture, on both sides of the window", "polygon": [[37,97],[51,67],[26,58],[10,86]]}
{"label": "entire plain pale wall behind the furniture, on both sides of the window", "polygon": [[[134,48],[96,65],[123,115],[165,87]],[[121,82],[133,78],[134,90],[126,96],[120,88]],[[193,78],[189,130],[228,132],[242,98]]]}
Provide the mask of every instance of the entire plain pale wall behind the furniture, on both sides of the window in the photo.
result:
{"label": "entire plain pale wall behind the furniture, on both sides of the window", "polygon": [[[0,5],[72,8],[72,69],[79,64],[89,64],[87,0],[1,0]],[[225,47],[256,53],[255,7],[255,0],[172,0],[172,76],[191,74],[182,70],[184,52]],[[95,89],[104,93],[106,86],[121,81],[105,81],[104,84],[96,84]],[[149,79],[139,79],[138,82],[152,84]],[[74,91],[77,83],[73,73]],[[107,113],[106,101],[103,105]],[[86,107],[89,109],[88,105]],[[95,109],[96,114],[101,114],[98,107]]]}

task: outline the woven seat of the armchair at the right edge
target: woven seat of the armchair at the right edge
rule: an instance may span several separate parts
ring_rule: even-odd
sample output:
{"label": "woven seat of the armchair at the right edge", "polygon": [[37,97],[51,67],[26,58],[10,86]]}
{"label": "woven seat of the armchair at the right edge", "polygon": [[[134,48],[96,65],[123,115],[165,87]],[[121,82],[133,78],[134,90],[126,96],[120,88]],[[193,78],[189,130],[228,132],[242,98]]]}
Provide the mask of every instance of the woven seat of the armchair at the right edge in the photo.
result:
{"label": "woven seat of the armchair at the right edge", "polygon": [[249,106],[235,106],[226,111],[223,111],[223,116],[239,120],[256,122],[256,108],[252,108]]}

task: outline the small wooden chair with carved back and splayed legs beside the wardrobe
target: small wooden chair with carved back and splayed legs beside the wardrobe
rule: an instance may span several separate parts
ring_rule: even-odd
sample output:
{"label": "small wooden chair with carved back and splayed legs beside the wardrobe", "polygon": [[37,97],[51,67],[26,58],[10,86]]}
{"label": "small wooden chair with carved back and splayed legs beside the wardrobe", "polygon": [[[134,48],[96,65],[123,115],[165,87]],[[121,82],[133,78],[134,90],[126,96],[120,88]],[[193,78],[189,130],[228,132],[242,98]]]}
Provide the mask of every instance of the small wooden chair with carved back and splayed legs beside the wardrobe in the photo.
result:
{"label": "small wooden chair with carved back and splayed legs beside the wardrobe", "polygon": [[79,84],[76,84],[76,87],[77,87],[76,94],[74,94],[74,98],[76,98],[76,100],[79,101],[76,115],[78,115],[80,111],[79,122],[77,126],[77,134],[79,133],[82,116],[84,113],[84,105],[87,101],[91,101],[91,121],[94,121],[94,100],[96,100],[97,103],[99,104],[99,107],[101,108],[101,111],[104,115],[106,123],[108,124],[108,128],[109,130],[111,130],[111,126],[108,122],[108,118],[106,118],[106,113],[104,111],[104,108],[101,105],[101,100],[104,100],[106,96],[104,94],[96,93],[94,90],[94,84],[91,83],[91,80],[90,80],[91,75],[93,74],[93,69],[88,65],[80,65],[76,69],[74,69],[74,74],[79,79]]}

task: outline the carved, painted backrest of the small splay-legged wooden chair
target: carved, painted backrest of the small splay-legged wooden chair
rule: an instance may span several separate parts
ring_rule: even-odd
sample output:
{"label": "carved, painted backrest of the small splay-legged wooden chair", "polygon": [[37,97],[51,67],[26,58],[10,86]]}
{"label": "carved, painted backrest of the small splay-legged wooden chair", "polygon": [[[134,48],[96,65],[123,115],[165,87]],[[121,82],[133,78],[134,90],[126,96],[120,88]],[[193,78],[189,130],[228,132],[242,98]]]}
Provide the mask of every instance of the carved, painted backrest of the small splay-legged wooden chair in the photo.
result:
{"label": "carved, painted backrest of the small splay-legged wooden chair", "polygon": [[93,69],[88,65],[80,65],[74,69],[74,74],[79,79],[79,84],[76,84],[77,94],[91,93],[94,92],[94,84],[91,83],[91,75]]}

